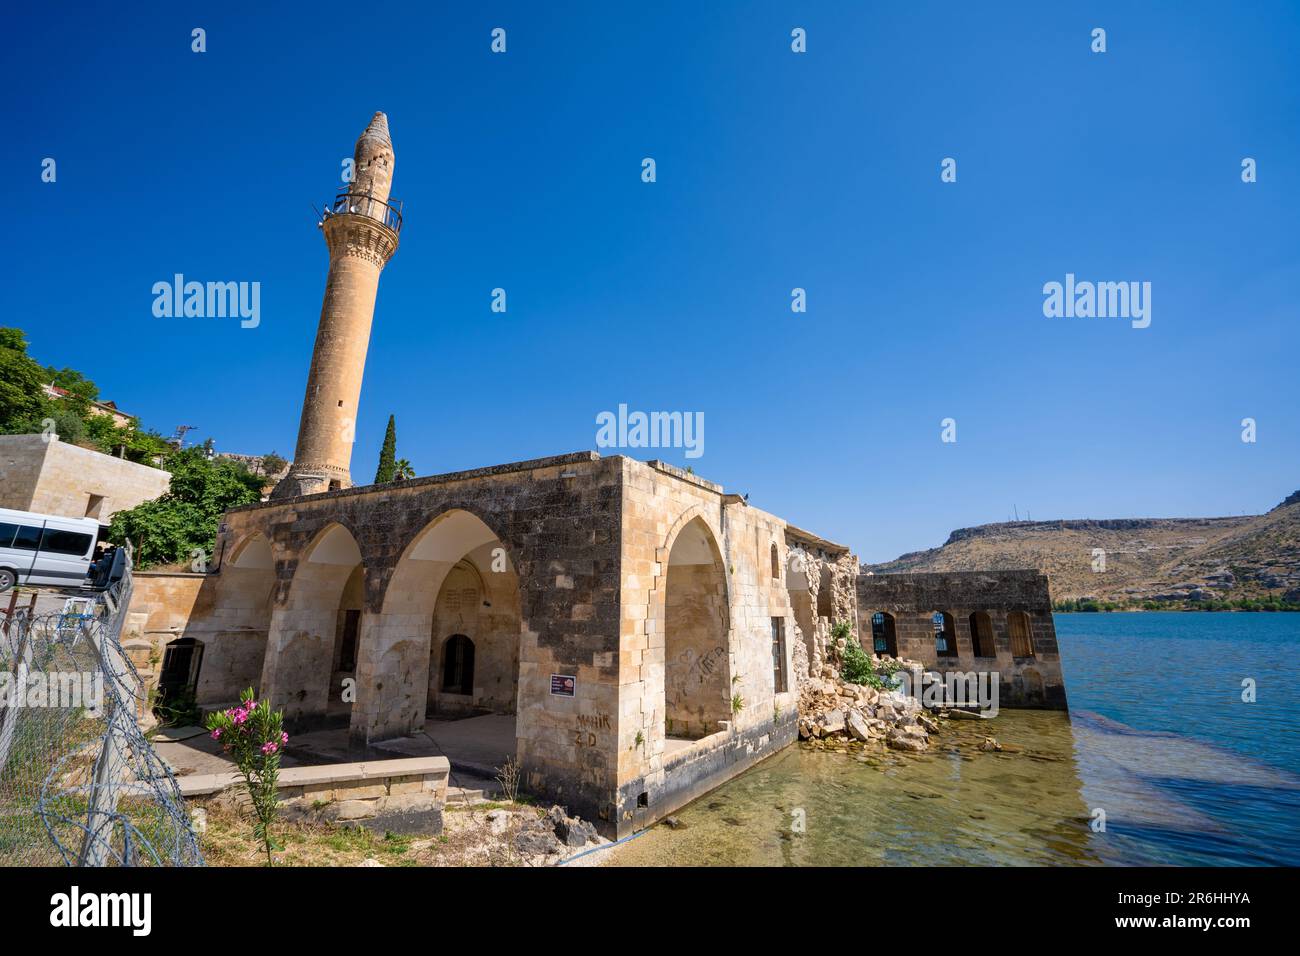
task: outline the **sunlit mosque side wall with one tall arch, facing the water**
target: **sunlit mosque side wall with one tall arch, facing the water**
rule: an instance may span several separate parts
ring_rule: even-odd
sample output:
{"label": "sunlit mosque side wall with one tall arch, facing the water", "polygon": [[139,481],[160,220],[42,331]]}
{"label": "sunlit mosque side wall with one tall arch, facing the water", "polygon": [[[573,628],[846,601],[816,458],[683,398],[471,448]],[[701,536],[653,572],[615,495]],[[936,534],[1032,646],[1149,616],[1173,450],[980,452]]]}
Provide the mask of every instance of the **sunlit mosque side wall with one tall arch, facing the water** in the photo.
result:
{"label": "sunlit mosque side wall with one tall arch, facing the water", "polygon": [[[621,468],[619,709],[614,728],[619,835],[672,813],[790,743],[797,704],[785,522],[662,462],[625,458]],[[688,553],[682,555],[679,546]],[[706,558],[701,546],[712,557]],[[716,579],[710,570],[715,562]],[[701,579],[716,580],[716,588],[701,584]],[[685,600],[696,605],[689,620],[673,610],[682,587]],[[689,597],[692,593],[696,597]],[[711,604],[707,609],[701,604],[698,596],[705,593],[724,601],[725,615]],[[784,689],[776,687],[774,619],[781,622],[784,639]],[[694,723],[685,731],[675,727],[670,735],[670,706],[679,700],[681,687],[692,687],[697,696]],[[705,696],[707,710],[699,704]],[[720,713],[719,706],[724,708]]]}

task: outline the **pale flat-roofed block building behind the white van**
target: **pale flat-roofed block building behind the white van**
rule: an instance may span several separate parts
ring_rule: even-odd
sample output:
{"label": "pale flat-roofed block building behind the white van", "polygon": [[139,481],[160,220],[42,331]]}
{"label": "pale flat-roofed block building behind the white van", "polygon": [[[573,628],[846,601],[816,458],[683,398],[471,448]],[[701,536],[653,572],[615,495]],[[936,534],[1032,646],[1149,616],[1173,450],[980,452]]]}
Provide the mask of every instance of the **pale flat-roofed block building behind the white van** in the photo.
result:
{"label": "pale flat-roofed block building behind the white van", "polygon": [[166,493],[172,476],[43,434],[0,434],[0,507],[108,524]]}

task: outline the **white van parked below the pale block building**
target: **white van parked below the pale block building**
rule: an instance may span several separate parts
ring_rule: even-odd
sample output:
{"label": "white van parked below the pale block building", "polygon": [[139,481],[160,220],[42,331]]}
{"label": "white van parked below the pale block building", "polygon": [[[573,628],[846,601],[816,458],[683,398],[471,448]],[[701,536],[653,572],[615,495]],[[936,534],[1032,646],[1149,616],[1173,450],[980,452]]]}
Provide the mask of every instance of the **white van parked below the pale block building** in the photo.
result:
{"label": "white van parked below the pale block building", "polygon": [[81,587],[99,540],[94,518],[58,518],[0,507],[0,592],[14,584]]}

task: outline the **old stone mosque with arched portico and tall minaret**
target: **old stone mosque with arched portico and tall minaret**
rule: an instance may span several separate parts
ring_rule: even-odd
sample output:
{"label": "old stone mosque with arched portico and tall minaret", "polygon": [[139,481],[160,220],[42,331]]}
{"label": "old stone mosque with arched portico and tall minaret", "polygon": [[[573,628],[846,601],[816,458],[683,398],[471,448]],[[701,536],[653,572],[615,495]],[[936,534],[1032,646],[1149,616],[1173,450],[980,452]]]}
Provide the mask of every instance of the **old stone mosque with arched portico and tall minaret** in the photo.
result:
{"label": "old stone mosque with arched portico and tall minaret", "polygon": [[[355,168],[321,221],[330,264],[292,468],[225,516],[205,574],[136,579],[134,633],[186,649],[202,706],[252,685],[291,728],[346,726],[359,752],[430,717],[512,715],[500,762],[519,762],[524,790],[621,836],[796,740],[797,683],[833,622],[928,620],[906,593],[859,620],[849,548],[659,460],[580,451],[354,486],[351,425],[402,229],[384,113]],[[1024,702],[1052,705],[1037,578],[1041,593],[1014,597],[1035,614],[1015,669]],[[953,666],[974,666],[963,635]],[[998,640],[985,657],[1010,669]]]}

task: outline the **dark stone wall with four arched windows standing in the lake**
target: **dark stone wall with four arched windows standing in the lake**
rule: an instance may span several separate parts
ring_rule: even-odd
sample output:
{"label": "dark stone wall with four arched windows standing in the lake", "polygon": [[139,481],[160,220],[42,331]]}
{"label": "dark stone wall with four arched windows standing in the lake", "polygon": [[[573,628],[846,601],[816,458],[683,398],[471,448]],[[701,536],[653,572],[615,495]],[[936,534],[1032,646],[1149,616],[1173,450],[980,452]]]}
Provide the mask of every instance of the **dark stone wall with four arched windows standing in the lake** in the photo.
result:
{"label": "dark stone wall with four arched windows standing in the lake", "polygon": [[[871,618],[893,615],[898,656],[930,670],[996,671],[1000,704],[1066,709],[1065,678],[1046,575],[1037,571],[953,571],[937,574],[862,575],[858,591],[858,636],[872,649]],[[956,656],[936,650],[932,615],[946,613],[954,626]],[[976,657],[971,615],[983,613],[993,631],[994,656]],[[1032,654],[1013,653],[1011,615],[1024,614]]]}

